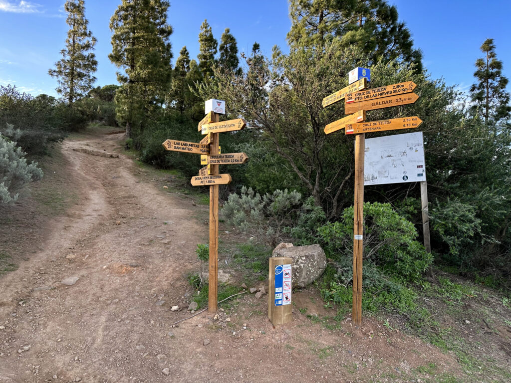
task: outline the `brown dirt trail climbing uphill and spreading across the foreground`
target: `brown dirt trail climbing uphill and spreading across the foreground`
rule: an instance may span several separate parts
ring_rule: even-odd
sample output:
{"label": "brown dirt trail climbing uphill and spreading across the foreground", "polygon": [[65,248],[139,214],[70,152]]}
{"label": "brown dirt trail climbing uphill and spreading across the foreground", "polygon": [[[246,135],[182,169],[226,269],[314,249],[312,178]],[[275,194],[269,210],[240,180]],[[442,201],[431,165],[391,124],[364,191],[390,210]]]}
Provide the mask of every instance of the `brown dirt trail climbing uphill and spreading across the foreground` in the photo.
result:
{"label": "brown dirt trail climbing uphill and spreading across the foreground", "polygon": [[[198,270],[207,230],[192,217],[205,207],[140,182],[122,154],[95,155],[118,151],[120,139],[63,144],[68,187],[81,197],[43,250],[0,279],[0,382],[409,381],[428,362],[453,371],[451,357],[369,320],[326,329],[297,313],[273,328],[253,296],[220,321],[204,313],[171,327],[189,315],[185,274]],[[62,284],[68,277],[79,280]],[[388,371],[396,377],[384,380]]]}

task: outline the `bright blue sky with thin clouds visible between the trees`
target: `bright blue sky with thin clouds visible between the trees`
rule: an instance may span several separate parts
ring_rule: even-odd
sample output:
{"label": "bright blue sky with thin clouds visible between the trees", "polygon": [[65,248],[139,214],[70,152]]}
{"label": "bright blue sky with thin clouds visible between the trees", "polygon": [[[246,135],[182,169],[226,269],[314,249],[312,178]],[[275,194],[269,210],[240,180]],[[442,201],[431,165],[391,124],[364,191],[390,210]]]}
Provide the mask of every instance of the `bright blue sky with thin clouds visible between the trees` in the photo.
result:
{"label": "bright blue sky with thin clouds visible between the trees", "polygon": [[[120,0],[86,0],[89,28],[97,37],[99,62],[97,85],[117,84],[111,51],[109,20]],[[433,78],[444,77],[449,85],[466,90],[473,82],[479,46],[492,37],[497,55],[504,62],[504,75],[511,79],[510,0],[390,0],[407,23],[415,45],[424,52],[424,64]],[[32,94],[57,95],[56,81],[48,69],[60,59],[67,32],[64,0],[0,0],[0,85],[8,83]],[[286,0],[171,1],[169,22],[174,59],[183,45],[192,57],[198,53],[199,28],[207,18],[219,40],[230,28],[240,52],[248,52],[254,41],[270,55],[274,44],[286,51],[286,33],[291,22]],[[508,87],[511,89],[511,87]]]}

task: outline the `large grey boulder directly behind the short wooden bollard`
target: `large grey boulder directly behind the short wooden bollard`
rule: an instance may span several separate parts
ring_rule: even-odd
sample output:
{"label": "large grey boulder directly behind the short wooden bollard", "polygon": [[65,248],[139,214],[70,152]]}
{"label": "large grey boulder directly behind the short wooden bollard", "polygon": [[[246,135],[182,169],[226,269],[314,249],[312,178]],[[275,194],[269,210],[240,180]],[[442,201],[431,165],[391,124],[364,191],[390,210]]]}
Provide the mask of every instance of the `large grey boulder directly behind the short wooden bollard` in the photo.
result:
{"label": "large grey boulder directly behind the short wooden bollard", "polygon": [[314,282],[327,268],[327,257],[319,245],[275,248],[272,256],[293,259],[292,285],[295,287],[303,288]]}

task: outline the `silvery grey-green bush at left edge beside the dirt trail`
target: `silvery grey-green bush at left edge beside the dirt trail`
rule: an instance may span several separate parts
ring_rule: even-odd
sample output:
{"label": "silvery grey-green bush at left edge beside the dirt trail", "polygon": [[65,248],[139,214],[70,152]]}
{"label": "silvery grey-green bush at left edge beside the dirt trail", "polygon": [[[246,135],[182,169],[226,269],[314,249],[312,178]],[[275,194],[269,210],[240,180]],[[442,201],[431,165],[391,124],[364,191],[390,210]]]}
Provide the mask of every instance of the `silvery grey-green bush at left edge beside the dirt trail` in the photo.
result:
{"label": "silvery grey-green bush at left edge beside the dirt trail", "polygon": [[15,202],[19,190],[42,178],[37,162],[27,164],[26,153],[0,134],[0,205]]}

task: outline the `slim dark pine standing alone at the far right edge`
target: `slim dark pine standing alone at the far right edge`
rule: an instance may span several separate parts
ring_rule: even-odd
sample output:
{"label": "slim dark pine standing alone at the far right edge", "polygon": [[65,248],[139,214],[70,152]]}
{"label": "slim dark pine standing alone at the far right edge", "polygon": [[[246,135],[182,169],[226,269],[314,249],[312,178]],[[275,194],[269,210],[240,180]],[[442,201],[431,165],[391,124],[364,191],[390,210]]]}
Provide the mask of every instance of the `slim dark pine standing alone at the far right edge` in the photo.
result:
{"label": "slim dark pine standing alone at the far right edge", "polygon": [[502,61],[497,60],[493,39],[486,39],[480,49],[484,57],[478,58],[475,64],[474,77],[478,83],[470,87],[472,109],[481,111],[486,125],[497,124],[511,117],[509,93],[506,92],[508,80],[502,75]]}

